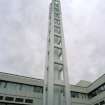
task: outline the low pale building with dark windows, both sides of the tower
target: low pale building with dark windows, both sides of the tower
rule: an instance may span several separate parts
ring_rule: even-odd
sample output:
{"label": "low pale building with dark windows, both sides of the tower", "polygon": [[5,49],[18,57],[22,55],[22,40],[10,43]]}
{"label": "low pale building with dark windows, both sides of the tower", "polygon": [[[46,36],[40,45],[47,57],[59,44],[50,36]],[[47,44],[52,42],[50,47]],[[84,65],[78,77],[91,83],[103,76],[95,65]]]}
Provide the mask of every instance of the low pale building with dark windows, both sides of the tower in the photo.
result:
{"label": "low pale building with dark windows, both sides of the tower", "polygon": [[[43,85],[41,79],[0,73],[0,105],[42,105]],[[104,105],[105,75],[90,84],[69,85],[69,94],[72,105]]]}

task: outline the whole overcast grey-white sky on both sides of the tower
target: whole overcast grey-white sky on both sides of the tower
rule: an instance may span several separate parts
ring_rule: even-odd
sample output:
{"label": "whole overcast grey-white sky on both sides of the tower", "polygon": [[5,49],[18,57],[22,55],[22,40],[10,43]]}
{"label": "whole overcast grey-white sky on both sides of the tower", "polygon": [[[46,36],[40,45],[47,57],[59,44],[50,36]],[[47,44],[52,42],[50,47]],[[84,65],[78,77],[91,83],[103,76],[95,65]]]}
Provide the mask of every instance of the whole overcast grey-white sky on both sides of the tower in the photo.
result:
{"label": "whole overcast grey-white sky on both sides of the tower", "polygon": [[[0,71],[43,78],[50,0],[0,0]],[[69,78],[105,73],[105,0],[61,0]]]}

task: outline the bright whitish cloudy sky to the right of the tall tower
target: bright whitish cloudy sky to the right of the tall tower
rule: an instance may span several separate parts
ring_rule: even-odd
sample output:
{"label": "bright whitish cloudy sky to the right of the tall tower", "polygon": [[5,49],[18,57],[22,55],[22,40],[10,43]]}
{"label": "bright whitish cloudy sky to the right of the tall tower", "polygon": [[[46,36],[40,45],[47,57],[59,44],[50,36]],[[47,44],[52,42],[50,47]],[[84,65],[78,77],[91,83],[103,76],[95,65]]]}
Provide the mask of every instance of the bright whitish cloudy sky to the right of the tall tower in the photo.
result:
{"label": "bright whitish cloudy sky to the right of the tall tower", "polygon": [[93,81],[105,73],[104,0],[62,2],[71,82]]}

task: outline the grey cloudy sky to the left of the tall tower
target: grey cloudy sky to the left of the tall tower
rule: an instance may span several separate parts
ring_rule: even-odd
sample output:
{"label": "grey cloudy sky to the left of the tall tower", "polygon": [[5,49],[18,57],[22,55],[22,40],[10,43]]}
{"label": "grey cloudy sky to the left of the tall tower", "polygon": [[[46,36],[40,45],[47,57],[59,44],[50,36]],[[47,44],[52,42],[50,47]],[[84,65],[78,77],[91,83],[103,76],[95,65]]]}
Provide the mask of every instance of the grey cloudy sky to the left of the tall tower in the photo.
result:
{"label": "grey cloudy sky to the left of the tall tower", "polygon": [[27,76],[32,76],[35,71],[35,76],[42,77],[46,47],[43,40],[47,36],[47,4],[34,0],[1,1],[1,71]]}

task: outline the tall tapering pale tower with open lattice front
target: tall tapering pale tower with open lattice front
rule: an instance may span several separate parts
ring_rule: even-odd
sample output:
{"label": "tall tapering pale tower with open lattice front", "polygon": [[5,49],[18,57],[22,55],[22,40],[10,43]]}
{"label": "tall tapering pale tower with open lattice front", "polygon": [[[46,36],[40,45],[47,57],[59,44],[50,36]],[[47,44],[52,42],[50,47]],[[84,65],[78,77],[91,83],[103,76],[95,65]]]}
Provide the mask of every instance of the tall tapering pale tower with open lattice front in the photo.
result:
{"label": "tall tapering pale tower with open lattice front", "polygon": [[60,0],[50,4],[47,47],[43,105],[71,105]]}

